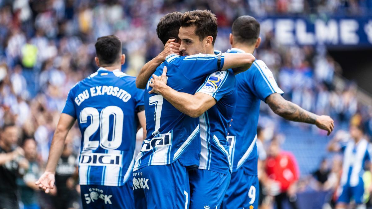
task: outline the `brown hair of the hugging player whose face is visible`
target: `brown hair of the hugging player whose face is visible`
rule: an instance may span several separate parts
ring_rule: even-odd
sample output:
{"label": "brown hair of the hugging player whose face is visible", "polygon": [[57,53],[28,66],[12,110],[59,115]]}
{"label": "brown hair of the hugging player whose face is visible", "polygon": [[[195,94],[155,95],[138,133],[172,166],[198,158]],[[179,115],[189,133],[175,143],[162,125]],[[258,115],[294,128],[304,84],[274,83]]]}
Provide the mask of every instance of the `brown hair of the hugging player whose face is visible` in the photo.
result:
{"label": "brown hair of the hugging player whose face is visible", "polygon": [[212,36],[212,45],[217,37],[217,17],[209,10],[193,10],[181,16],[181,27],[196,26],[195,34],[200,40]]}

